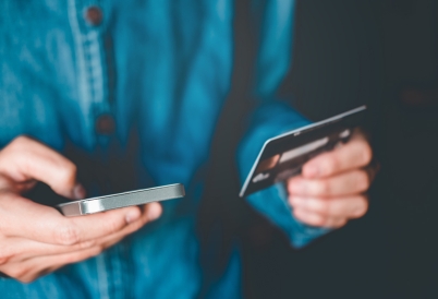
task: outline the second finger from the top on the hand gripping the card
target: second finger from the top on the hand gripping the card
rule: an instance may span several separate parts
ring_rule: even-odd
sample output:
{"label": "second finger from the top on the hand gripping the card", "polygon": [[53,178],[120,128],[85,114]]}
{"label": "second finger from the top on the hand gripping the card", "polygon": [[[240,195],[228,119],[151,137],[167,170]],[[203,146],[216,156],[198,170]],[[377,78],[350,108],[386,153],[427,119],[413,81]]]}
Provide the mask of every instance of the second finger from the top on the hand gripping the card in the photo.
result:
{"label": "second finger from the top on the hand gripping the card", "polygon": [[308,180],[297,176],[288,181],[288,191],[291,195],[331,198],[365,192],[369,184],[365,170],[352,170],[327,179]]}

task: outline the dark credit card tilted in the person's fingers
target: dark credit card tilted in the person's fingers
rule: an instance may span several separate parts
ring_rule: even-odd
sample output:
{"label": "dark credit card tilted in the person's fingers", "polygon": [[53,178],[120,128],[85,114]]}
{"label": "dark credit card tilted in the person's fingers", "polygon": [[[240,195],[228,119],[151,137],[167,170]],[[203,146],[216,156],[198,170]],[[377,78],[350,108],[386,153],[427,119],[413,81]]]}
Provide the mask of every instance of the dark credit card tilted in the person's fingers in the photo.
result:
{"label": "dark credit card tilted in the person's fingers", "polygon": [[240,196],[300,175],[303,165],[346,142],[366,110],[361,106],[350,111],[315,122],[267,140],[246,177]]}

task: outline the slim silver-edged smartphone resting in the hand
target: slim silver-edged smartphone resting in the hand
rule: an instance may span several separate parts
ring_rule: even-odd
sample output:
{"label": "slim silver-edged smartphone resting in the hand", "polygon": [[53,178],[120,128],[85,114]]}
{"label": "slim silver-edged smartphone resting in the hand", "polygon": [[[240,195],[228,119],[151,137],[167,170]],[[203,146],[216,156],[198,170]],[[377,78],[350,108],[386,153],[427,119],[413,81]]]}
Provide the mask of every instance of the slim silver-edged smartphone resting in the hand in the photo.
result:
{"label": "slim silver-edged smartphone resting in the hand", "polygon": [[99,213],[131,205],[141,205],[180,199],[185,195],[184,186],[174,183],[149,189],[134,190],[118,194],[97,196],[54,205],[65,216],[80,216]]}

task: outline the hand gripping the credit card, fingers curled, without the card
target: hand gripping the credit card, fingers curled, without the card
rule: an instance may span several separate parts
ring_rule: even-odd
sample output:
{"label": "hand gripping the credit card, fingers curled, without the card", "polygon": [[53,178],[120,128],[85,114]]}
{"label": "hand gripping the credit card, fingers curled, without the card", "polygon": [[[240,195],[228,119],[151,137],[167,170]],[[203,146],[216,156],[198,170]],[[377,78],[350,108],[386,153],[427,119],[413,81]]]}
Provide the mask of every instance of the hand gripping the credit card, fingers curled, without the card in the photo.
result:
{"label": "hand gripping the credit card, fingers curled, without the card", "polygon": [[339,228],[368,210],[365,192],[374,178],[372,148],[360,131],[351,140],[311,159],[302,175],[287,181],[296,219],[317,227]]}

